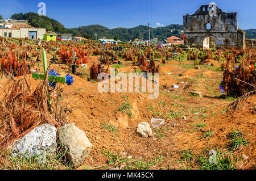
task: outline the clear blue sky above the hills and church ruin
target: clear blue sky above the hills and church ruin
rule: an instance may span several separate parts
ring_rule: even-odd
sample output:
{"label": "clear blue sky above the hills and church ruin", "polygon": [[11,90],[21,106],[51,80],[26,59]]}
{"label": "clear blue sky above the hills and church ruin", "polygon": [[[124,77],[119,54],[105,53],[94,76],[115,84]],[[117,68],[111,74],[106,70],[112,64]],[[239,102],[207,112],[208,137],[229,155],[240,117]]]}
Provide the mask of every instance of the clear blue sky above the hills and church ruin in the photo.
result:
{"label": "clear blue sky above the hills and church ruin", "polygon": [[183,15],[193,14],[200,5],[215,2],[224,12],[238,12],[238,27],[256,28],[255,0],[1,0],[0,15],[9,18],[19,12],[38,12],[46,3],[46,15],[67,28],[101,24],[108,28],[151,27],[183,24]]}

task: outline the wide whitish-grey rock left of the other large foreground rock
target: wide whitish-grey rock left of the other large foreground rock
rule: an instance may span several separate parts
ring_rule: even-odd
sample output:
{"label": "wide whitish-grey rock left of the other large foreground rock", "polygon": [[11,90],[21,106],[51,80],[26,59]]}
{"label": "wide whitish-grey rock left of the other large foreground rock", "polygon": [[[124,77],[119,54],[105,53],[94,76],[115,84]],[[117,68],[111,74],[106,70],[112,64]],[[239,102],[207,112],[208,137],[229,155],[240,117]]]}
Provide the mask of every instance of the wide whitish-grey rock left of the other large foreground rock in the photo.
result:
{"label": "wide whitish-grey rock left of the other large foreground rock", "polygon": [[11,146],[14,155],[40,155],[43,152],[53,154],[56,151],[57,129],[50,124],[43,124],[32,129],[21,140],[15,141]]}

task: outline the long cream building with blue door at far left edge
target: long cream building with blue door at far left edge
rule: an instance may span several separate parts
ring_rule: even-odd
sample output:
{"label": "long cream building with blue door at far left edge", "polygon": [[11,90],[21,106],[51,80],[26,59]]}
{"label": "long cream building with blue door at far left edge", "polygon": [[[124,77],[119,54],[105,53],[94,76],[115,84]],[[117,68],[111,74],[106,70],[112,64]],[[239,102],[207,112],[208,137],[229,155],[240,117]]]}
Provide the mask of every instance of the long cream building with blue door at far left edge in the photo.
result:
{"label": "long cream building with blue door at far left edge", "polygon": [[28,39],[43,39],[46,33],[46,28],[1,28],[0,36],[3,37],[16,37]]}

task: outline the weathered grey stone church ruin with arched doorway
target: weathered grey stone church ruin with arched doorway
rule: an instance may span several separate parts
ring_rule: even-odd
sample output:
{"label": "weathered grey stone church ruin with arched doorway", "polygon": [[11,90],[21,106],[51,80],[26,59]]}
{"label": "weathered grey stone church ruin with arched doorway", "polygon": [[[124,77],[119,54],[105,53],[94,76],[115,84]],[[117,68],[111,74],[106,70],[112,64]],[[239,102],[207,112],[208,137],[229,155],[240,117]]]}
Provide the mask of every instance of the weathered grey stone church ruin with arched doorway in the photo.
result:
{"label": "weathered grey stone church ruin with arched doorway", "polygon": [[187,45],[216,49],[245,48],[245,32],[238,28],[237,12],[223,12],[216,6],[203,5],[193,15],[183,16]]}

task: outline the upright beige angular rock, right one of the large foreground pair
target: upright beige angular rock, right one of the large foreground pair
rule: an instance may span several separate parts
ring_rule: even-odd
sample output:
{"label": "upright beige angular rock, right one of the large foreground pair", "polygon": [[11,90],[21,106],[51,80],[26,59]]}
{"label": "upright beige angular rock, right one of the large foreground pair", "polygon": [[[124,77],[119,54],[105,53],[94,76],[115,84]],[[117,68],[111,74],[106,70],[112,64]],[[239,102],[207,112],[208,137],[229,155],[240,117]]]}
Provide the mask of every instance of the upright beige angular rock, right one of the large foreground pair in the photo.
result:
{"label": "upright beige angular rock, right one of the large foreground pair", "polygon": [[63,149],[68,151],[66,156],[73,167],[77,168],[82,165],[93,146],[85,132],[77,128],[75,124],[70,123],[60,127],[59,138]]}

